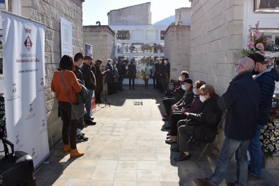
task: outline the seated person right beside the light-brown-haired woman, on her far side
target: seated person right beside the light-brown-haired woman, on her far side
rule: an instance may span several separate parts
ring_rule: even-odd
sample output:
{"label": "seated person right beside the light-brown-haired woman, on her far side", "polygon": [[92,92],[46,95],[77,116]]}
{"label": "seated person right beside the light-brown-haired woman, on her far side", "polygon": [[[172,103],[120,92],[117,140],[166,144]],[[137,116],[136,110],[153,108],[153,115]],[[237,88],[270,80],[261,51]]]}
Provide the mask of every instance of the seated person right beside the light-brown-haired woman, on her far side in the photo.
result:
{"label": "seated person right beside the light-brown-haired woman, on her far side", "polygon": [[[180,120],[187,119],[186,112],[188,113],[197,113],[199,109],[202,107],[202,101],[199,100],[200,91],[199,88],[206,84],[203,81],[198,80],[195,82],[195,89],[193,89],[193,93],[195,93],[194,97],[192,98],[190,104],[186,105],[182,108],[181,111],[172,111],[172,124],[170,127],[170,136],[167,137],[166,143],[176,143],[177,141],[177,123]],[[194,91],[195,90],[195,91]]]}

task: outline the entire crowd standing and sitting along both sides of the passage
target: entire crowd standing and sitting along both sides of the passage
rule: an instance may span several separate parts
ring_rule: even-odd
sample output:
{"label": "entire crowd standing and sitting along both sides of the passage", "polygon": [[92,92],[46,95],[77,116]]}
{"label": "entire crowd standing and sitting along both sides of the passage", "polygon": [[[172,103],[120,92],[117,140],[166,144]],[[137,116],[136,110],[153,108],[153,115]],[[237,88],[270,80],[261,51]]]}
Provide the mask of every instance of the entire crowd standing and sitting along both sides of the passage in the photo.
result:
{"label": "entire crowd standing and sitting along both sides of the passage", "polygon": [[[135,89],[136,68],[134,59],[128,65],[129,89]],[[81,130],[84,124],[96,125],[91,118],[91,99],[96,92],[96,102],[100,103],[103,91],[103,77],[107,83],[107,93],[112,95],[123,91],[123,77],[126,73],[127,61],[107,60],[105,70],[103,61],[93,61],[91,56],[81,53],[71,56],[64,55],[59,68],[54,72],[51,89],[56,93],[59,113],[63,120],[62,138],[63,152],[70,152],[70,157],[80,157],[83,152],[77,150],[77,140],[87,141]],[[259,145],[259,134],[268,123],[275,82],[279,75],[273,68],[266,68],[264,57],[250,54],[236,63],[236,76],[229,83],[227,91],[219,96],[213,86],[202,80],[195,83],[187,71],[182,71],[179,80],[172,90],[167,89],[169,80],[169,62],[157,59],[153,67],[145,70],[145,88],[148,79],[153,79],[153,88],[165,93],[163,104],[165,116],[169,121],[165,129],[170,130],[165,142],[177,144],[172,151],[180,152],[175,161],[191,159],[188,143],[190,139],[206,141],[215,139],[218,124],[224,111],[225,140],[218,155],[216,169],[209,178],[197,178],[197,185],[220,185],[225,178],[229,161],[235,154],[237,162],[237,180],[228,185],[246,185],[247,180],[259,180],[262,168],[262,150]],[[252,75],[255,75],[253,78]],[[89,92],[84,102],[86,114],[81,118],[73,118],[72,106],[78,104],[77,93],[83,87]],[[250,153],[248,163],[247,150]]]}

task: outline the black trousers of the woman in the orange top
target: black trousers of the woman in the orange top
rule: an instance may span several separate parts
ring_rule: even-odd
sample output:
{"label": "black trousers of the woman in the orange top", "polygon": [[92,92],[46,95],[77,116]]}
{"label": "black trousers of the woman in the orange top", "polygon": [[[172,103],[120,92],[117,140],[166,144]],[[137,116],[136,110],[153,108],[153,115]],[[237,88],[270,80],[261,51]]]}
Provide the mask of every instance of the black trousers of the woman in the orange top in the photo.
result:
{"label": "black trousers of the woman in the orange top", "polygon": [[63,144],[68,145],[70,143],[70,148],[75,149],[77,148],[77,120],[70,119],[72,106],[70,105],[70,102],[61,102],[61,101],[58,101],[58,105],[59,108],[61,109],[61,114],[63,119],[63,127],[62,127]]}

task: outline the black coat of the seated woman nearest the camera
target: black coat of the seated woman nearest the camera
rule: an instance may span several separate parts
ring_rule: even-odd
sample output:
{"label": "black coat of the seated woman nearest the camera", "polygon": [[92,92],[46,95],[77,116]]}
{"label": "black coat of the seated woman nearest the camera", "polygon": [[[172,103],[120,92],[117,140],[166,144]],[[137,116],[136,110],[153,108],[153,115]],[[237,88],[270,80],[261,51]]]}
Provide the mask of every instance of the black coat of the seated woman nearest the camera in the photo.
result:
{"label": "black coat of the seated woman nearest the camera", "polygon": [[203,102],[197,114],[189,113],[188,118],[206,127],[217,127],[222,116],[222,110],[217,104],[218,98],[217,94],[212,95]]}

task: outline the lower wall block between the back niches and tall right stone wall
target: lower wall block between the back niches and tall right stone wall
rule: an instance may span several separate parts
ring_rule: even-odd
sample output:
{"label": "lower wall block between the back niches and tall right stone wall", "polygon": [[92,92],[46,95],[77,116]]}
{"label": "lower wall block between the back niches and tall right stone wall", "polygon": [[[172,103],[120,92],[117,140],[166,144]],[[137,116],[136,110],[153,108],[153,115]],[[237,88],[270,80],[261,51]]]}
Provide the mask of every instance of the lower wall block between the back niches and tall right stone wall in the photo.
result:
{"label": "lower wall block between the back niches and tall right stone wall", "polygon": [[[165,58],[170,63],[170,78],[190,70],[190,26],[169,26],[165,31]],[[190,75],[191,76],[191,75]]]}

